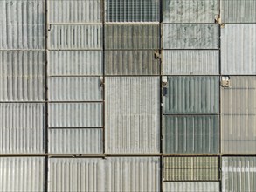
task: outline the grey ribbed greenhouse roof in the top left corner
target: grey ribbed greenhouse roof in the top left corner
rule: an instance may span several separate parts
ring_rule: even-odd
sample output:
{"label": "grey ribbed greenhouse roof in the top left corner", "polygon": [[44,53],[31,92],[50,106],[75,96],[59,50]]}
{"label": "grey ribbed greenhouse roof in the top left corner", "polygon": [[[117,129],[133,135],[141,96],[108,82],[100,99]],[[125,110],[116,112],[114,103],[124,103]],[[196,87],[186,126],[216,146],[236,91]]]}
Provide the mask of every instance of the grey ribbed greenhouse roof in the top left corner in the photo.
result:
{"label": "grey ribbed greenhouse roof in the top left corner", "polygon": [[45,48],[45,1],[0,1],[0,50]]}

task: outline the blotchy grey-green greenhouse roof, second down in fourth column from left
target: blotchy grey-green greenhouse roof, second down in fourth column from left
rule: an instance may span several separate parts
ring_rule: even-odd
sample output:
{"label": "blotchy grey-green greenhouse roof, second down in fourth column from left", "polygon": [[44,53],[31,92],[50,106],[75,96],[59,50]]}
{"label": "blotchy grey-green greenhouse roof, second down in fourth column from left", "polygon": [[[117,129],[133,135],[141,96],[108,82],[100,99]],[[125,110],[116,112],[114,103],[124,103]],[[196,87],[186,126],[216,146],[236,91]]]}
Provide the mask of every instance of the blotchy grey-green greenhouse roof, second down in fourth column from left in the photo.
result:
{"label": "blotchy grey-green greenhouse roof, second down in fourth column from left", "polygon": [[163,24],[163,49],[218,49],[218,24]]}

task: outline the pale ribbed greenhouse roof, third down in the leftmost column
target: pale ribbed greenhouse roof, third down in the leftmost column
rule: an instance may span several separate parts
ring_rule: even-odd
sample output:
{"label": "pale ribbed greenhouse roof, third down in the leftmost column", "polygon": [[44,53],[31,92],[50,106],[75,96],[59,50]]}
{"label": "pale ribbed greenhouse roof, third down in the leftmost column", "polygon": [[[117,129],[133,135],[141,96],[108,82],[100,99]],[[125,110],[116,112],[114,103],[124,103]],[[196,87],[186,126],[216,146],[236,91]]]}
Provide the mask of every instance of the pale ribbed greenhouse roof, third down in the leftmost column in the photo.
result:
{"label": "pale ribbed greenhouse roof, third down in the leftmost column", "polygon": [[1,103],[0,127],[1,154],[45,152],[45,104]]}

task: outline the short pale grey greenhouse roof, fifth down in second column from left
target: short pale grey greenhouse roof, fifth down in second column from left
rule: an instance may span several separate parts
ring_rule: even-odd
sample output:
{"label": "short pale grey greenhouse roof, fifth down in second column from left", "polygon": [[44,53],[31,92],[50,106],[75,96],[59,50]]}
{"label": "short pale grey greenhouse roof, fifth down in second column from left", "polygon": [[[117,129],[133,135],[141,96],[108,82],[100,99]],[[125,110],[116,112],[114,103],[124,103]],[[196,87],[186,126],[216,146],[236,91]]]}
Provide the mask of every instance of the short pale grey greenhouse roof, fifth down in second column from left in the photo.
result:
{"label": "short pale grey greenhouse roof, fifth down in second column from left", "polygon": [[101,103],[49,103],[49,127],[102,127]]}

